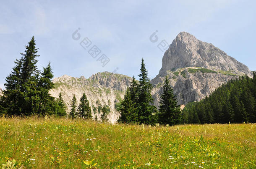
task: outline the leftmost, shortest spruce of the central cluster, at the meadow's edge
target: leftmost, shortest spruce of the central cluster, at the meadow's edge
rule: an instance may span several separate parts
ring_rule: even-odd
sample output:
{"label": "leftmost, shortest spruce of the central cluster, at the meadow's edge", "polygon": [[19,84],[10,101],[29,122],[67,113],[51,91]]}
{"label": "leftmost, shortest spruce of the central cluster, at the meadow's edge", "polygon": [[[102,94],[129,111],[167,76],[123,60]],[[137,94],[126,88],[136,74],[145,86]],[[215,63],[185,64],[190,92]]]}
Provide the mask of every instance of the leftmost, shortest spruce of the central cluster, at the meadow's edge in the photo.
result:
{"label": "leftmost, shortest spruce of the central cluster, at the meadow's edge", "polygon": [[121,108],[119,109],[120,118],[118,123],[136,123],[137,113],[134,107],[135,103],[131,98],[131,91],[126,90],[123,101],[121,102]]}

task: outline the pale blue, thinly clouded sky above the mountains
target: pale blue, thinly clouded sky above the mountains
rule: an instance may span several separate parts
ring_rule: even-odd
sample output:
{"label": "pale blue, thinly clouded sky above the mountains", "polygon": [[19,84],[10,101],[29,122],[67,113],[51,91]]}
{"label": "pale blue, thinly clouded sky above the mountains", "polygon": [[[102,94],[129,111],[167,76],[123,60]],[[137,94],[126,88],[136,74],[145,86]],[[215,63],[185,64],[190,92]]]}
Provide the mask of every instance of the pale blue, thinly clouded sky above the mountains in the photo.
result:
{"label": "pale blue, thinly clouded sky above the mountains", "polygon": [[[0,5],[0,87],[34,35],[38,67],[51,61],[55,77],[88,78],[97,72],[137,76],[141,58],[149,76],[162,67],[164,52],[149,40],[172,43],[182,31],[214,44],[256,70],[256,1],[253,0],[8,0]],[[80,28],[81,38],[72,34]],[[80,42],[89,38],[110,62],[102,67]],[[89,47],[92,47],[89,46]],[[100,56],[99,55],[99,56]],[[98,56],[98,57],[99,57]]]}

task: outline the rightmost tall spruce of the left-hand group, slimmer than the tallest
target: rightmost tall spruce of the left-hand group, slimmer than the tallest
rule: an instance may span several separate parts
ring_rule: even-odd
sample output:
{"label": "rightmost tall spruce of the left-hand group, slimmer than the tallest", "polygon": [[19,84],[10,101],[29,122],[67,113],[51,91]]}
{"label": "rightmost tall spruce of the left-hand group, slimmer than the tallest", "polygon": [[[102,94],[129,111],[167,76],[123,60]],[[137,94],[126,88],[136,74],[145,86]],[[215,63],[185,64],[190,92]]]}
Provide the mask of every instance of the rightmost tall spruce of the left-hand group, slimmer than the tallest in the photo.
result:
{"label": "rightmost tall spruce of the left-hand group, slimmer than the tallest", "polygon": [[54,83],[52,83],[53,73],[52,68],[49,64],[44,71],[41,73],[41,78],[39,80],[39,91],[41,98],[41,110],[39,114],[52,114],[54,113],[54,97],[50,96],[49,91],[54,88]]}

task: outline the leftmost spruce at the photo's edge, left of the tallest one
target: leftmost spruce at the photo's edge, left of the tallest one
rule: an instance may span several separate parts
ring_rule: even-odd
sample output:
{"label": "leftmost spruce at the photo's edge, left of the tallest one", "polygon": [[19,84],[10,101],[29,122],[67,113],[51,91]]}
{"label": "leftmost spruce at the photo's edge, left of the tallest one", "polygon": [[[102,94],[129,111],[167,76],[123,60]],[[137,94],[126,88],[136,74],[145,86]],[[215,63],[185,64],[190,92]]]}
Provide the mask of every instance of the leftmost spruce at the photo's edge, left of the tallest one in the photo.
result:
{"label": "leftmost spruce at the photo's edge, left of the tallest one", "polygon": [[15,61],[16,66],[13,71],[6,77],[5,90],[0,98],[2,111],[8,115],[21,115],[21,60]]}

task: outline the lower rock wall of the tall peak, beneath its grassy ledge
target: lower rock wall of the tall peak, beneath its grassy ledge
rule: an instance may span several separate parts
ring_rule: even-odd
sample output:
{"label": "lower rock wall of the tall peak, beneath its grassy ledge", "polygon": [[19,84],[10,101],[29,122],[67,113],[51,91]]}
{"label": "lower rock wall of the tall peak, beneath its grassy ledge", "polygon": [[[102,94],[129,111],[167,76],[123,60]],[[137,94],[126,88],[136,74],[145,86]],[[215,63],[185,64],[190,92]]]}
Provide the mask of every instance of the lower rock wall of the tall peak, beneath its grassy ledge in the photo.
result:
{"label": "lower rock wall of the tall peak, beneath its grassy ledge", "polygon": [[[203,73],[196,71],[190,73],[191,69],[200,70],[198,68],[183,68],[182,71],[168,72],[167,76],[170,79],[173,92],[177,97],[178,104],[185,105],[191,101],[200,101],[209,96],[217,87],[223,83],[237,78],[239,76],[225,75],[222,73]],[[176,76],[176,75],[177,76]],[[159,99],[162,94],[162,84],[164,77],[157,76],[152,80],[154,85],[152,96],[154,98],[154,105],[159,106]]]}

